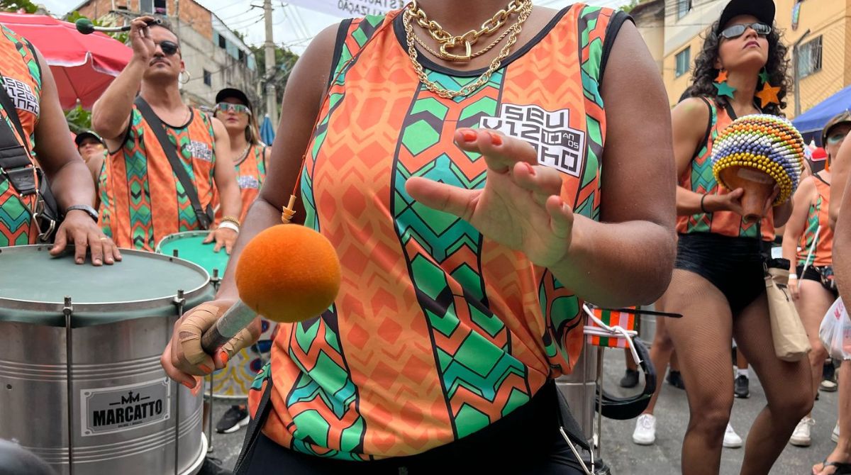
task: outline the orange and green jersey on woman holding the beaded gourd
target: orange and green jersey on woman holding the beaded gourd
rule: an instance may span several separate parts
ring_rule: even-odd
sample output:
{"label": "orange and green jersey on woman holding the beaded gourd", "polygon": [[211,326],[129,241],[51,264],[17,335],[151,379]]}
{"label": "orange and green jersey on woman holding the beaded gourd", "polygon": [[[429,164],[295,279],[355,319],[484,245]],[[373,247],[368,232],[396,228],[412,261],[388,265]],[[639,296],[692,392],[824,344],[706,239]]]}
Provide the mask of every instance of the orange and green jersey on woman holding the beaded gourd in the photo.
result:
{"label": "orange and green jersey on woman holding the beaded gourd", "polygon": [[[709,134],[705,143],[700,145],[700,150],[688,165],[683,176],[680,177],[680,186],[692,192],[704,194],[727,194],[728,191],[718,185],[715,176],[712,175],[712,146],[723,129],[733,122],[726,108],[718,107],[714,98],[706,98],[710,108]],[[733,211],[716,211],[715,213],[696,213],[694,215],[683,215],[677,217],[677,232],[688,234],[690,232],[715,232],[729,237],[757,237],[757,232],[762,228],[762,240],[774,240],[774,214],[772,211],[762,219],[762,223],[748,222],[741,215]]]}

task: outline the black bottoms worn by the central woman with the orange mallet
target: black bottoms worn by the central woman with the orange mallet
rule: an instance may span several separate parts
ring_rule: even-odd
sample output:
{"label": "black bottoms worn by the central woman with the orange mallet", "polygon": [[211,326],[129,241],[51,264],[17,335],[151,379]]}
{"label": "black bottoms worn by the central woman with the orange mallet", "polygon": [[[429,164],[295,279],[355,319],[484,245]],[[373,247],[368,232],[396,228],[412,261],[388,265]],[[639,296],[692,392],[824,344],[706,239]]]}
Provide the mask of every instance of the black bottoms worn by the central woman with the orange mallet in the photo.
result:
{"label": "black bottoms worn by the central woman with the orange mallet", "polygon": [[582,470],[559,432],[556,385],[550,381],[523,406],[471,435],[419,455],[378,461],[330,460],[284,448],[266,435],[254,446],[248,475],[408,475],[512,473],[580,475]]}

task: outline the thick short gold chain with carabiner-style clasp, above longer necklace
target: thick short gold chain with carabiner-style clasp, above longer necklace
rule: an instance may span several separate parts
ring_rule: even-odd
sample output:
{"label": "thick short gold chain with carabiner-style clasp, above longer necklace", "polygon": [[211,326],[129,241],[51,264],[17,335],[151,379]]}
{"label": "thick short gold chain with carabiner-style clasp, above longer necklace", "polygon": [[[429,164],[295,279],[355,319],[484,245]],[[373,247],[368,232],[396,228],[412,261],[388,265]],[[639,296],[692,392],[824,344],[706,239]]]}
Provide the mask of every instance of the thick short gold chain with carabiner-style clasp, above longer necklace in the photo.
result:
{"label": "thick short gold chain with carabiner-style clasp, above longer necklace", "polygon": [[[443,29],[443,26],[440,26],[437,21],[429,20],[428,15],[423,9],[420,9],[420,6],[417,4],[416,0],[409,5],[408,9],[410,9],[412,18],[416,20],[417,25],[424,28],[429,32],[432,38],[440,43],[439,52],[434,52],[433,50],[426,47],[426,49],[435,54],[435,56],[449,61],[469,61],[475,58],[479,54],[484,54],[489,49],[494,48],[497,43],[500,43],[503,37],[505,37],[506,33],[503,33],[499,39],[497,39],[494,43],[491,43],[488,48],[483,51],[478,52],[478,54],[472,53],[472,45],[476,44],[480,37],[490,36],[500,31],[502,26],[505,26],[505,21],[507,21],[512,14],[522,14],[525,9],[527,9],[531,5],[531,0],[511,0],[511,3],[508,3],[508,6],[505,9],[501,9],[499,12],[494,14],[489,20],[485,21],[482,24],[482,27],[479,30],[470,30],[464,33],[463,35],[454,36],[448,31]],[[422,43],[420,43],[422,44]],[[424,45],[425,47],[425,45]],[[454,54],[449,51],[452,49],[463,48],[463,54]]]}

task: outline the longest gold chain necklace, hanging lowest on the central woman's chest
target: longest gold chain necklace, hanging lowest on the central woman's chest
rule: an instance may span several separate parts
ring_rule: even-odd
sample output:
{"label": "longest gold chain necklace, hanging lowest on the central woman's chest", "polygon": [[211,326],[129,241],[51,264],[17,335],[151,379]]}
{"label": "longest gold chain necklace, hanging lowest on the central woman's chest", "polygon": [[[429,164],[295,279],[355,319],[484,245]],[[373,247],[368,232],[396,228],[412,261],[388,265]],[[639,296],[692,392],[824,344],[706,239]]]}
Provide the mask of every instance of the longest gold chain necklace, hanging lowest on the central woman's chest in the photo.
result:
{"label": "longest gold chain necklace, hanging lowest on the central woman's chest", "polygon": [[484,84],[488,83],[494,72],[500,69],[502,61],[511,53],[511,47],[514,46],[514,43],[517,43],[517,37],[520,35],[520,31],[523,31],[523,23],[526,19],[528,19],[529,14],[532,13],[533,5],[531,0],[523,1],[523,11],[520,13],[520,18],[517,19],[517,23],[510,27],[509,31],[511,32],[509,33],[508,41],[502,49],[500,49],[500,54],[491,61],[488,71],[483,72],[475,82],[469,83],[457,91],[445,89],[434,81],[431,81],[431,79],[429,79],[426,75],[426,72],[423,71],[423,66],[420,65],[420,61],[417,60],[417,49],[414,46],[414,43],[416,42],[414,39],[414,26],[411,25],[411,20],[414,18],[414,9],[419,8],[416,7],[416,3],[411,3],[408,8],[405,9],[402,16],[402,23],[405,26],[405,36],[408,40],[408,57],[411,60],[411,64],[414,66],[414,72],[417,73],[417,77],[420,77],[420,83],[423,83],[426,86],[426,89],[440,97],[443,97],[444,99],[454,99],[462,95],[470,95],[473,91],[481,88]]}

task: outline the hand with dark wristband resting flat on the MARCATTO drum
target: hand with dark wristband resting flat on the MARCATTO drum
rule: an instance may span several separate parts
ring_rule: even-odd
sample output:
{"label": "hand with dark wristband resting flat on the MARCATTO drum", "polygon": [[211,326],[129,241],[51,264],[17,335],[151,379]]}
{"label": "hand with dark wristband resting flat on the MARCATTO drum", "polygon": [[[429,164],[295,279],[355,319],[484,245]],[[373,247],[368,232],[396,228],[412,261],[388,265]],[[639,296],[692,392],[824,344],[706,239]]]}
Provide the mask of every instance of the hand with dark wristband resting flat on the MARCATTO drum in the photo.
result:
{"label": "hand with dark wristband resting flat on the MARCATTO drum", "polygon": [[65,220],[56,230],[54,245],[50,255],[60,255],[67,246],[74,246],[74,260],[83,264],[86,260],[86,250],[92,255],[92,265],[102,266],[121,260],[121,252],[112,239],[106,237],[97,223],[85,211],[73,209],[65,216]]}

